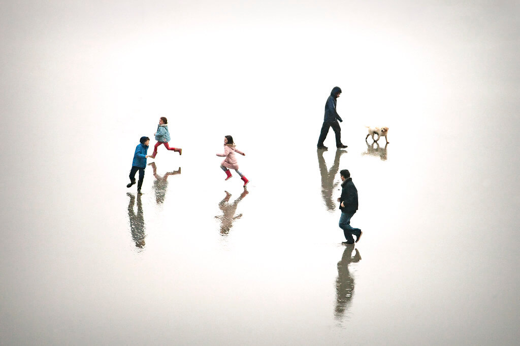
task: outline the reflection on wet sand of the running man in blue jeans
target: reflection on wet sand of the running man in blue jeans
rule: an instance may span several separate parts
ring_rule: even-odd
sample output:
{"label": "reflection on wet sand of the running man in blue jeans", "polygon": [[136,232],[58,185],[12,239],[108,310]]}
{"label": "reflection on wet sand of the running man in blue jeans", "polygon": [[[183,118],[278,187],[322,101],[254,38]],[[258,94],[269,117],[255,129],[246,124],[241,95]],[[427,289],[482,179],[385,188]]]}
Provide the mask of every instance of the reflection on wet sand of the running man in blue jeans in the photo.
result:
{"label": "reflection on wet sand of the running man in blue jeans", "polygon": [[334,316],[336,319],[341,319],[350,306],[350,300],[352,300],[352,296],[354,295],[354,278],[348,271],[348,265],[361,260],[357,248],[355,251],[355,255],[352,256],[352,247],[345,247],[343,257],[337,262],[336,307],[334,308]]}

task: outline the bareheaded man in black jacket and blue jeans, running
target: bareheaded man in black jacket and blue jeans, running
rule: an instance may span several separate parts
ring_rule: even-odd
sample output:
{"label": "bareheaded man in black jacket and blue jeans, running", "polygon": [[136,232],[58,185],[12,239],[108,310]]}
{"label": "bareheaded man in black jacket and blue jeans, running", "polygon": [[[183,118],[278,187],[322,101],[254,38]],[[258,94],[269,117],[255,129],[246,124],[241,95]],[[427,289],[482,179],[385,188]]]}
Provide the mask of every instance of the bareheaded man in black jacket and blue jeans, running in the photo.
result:
{"label": "bareheaded man in black jacket and blue jeans, running", "polygon": [[354,216],[358,209],[358,198],[357,198],[357,189],[352,182],[352,178],[350,177],[350,172],[348,170],[340,171],[341,177],[341,197],[337,199],[340,202],[340,228],[343,230],[343,234],[345,234],[346,241],[343,244],[354,244],[354,234],[356,236],[356,243],[361,238],[361,230],[359,228],[354,228],[350,226],[350,218]]}

